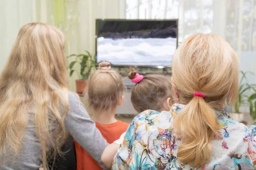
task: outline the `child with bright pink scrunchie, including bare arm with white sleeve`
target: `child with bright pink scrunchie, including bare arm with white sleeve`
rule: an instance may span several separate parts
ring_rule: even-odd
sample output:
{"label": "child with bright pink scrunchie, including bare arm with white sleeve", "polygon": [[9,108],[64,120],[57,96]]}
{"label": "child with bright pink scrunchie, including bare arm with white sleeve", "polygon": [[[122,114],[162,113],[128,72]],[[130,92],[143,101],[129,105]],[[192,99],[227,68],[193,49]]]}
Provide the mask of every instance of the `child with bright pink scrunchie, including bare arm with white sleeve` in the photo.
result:
{"label": "child with bright pink scrunchie, including bare arm with white sleeve", "polygon": [[[151,109],[158,112],[169,111],[174,104],[172,81],[170,77],[162,74],[146,74],[140,75],[134,68],[129,68],[127,77],[136,83],[131,91],[131,102],[134,109],[141,113]],[[114,155],[116,154],[119,144],[123,141],[123,136],[119,140],[108,145],[103,154],[102,162],[111,167]]]}

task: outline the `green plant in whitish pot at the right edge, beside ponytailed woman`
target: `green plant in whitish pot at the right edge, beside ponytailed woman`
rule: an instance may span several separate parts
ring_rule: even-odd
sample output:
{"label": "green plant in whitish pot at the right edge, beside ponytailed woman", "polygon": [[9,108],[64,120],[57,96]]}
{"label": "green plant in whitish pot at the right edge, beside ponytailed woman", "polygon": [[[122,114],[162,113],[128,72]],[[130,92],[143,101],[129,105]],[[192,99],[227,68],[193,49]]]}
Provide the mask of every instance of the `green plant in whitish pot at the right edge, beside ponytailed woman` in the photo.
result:
{"label": "green plant in whitish pot at the right edge, beside ponytailed woman", "polygon": [[[238,122],[242,122],[244,119],[244,113],[240,112],[241,105],[248,102],[250,104],[250,110],[253,111],[252,101],[253,101],[253,99],[256,99],[256,94],[249,95],[250,90],[253,90],[254,92],[256,92],[256,90],[255,90],[256,86],[255,86],[255,84],[248,84],[248,80],[246,77],[246,74],[248,74],[248,73],[253,74],[253,73],[252,72],[244,72],[244,71],[240,71],[240,73],[242,74],[242,77],[239,82],[239,96],[238,96],[238,99],[235,104],[234,112],[230,114],[232,119],[236,120]],[[255,111],[255,113],[256,113],[256,111]]]}

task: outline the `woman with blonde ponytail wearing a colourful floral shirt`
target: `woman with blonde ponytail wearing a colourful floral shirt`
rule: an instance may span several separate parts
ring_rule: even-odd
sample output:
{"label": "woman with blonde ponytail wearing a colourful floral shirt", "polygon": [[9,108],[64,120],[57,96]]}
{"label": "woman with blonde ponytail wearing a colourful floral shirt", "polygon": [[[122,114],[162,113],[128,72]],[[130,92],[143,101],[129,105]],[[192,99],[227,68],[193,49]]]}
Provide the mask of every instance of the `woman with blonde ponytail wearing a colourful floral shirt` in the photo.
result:
{"label": "woman with blonde ponytail wearing a colourful floral shirt", "polygon": [[238,61],[215,34],[184,40],[172,61],[177,103],[144,111],[128,127],[112,169],[256,169],[256,127],[227,112],[238,94]]}

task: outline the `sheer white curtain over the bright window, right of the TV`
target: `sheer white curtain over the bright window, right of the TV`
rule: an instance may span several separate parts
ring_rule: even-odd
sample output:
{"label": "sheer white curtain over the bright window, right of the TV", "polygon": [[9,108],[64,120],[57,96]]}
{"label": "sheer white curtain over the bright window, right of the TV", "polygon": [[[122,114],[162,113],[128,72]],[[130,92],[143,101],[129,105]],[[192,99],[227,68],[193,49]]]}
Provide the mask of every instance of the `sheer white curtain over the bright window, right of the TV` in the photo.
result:
{"label": "sheer white curtain over the bright window, right of the TV", "polygon": [[[240,69],[256,73],[256,0],[126,0],[127,19],[179,19],[179,42],[195,33],[223,37]],[[250,83],[256,77],[248,75]]]}

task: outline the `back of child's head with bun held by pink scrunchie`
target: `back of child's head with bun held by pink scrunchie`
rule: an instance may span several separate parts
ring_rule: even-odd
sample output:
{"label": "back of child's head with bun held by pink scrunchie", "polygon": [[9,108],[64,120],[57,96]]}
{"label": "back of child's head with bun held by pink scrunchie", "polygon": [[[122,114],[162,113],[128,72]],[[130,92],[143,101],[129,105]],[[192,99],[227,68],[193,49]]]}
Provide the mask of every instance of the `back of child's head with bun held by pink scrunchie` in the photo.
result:
{"label": "back of child's head with bun held by pink scrunchie", "polygon": [[[137,71],[134,68],[129,68],[127,76],[130,79],[134,79],[136,74]],[[164,105],[168,98],[171,98],[172,103],[171,79],[161,74],[145,75],[131,91],[131,102],[138,113],[148,109],[169,111],[170,108]]]}

